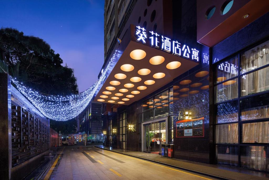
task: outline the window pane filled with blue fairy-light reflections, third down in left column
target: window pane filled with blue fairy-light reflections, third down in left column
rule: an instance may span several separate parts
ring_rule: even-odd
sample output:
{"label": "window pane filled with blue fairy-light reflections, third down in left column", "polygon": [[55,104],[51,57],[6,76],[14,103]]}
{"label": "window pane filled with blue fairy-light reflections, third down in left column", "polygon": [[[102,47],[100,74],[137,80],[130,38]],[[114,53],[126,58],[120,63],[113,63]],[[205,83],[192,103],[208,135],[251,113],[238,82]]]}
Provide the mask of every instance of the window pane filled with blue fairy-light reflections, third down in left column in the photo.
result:
{"label": "window pane filled with blue fairy-light reflections, third down in left column", "polygon": [[217,105],[216,123],[238,121],[238,102],[232,101]]}

